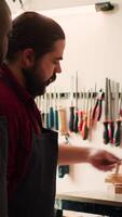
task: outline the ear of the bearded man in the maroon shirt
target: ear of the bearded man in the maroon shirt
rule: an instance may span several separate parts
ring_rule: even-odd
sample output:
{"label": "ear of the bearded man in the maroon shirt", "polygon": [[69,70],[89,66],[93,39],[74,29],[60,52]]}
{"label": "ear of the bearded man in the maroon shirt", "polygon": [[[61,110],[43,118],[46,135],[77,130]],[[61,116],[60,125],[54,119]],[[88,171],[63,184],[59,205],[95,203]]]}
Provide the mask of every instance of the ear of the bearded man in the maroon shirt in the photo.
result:
{"label": "ear of the bearded man in the maroon shirt", "polygon": [[22,54],[22,62],[24,66],[31,67],[35,63],[35,51],[33,49],[25,49]]}

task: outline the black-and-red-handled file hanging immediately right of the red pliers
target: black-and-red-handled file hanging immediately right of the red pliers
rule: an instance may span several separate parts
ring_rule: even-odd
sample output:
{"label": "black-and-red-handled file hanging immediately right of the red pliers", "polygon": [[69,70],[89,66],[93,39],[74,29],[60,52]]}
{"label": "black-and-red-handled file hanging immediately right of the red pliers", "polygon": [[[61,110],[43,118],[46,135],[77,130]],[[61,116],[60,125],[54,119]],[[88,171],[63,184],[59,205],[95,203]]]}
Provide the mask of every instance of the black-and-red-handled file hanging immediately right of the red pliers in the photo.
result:
{"label": "black-and-red-handled file hanging immediately right of the red pliers", "polygon": [[108,131],[108,78],[106,78],[106,88],[105,88],[105,120],[104,120],[104,143],[109,143],[109,131]]}

